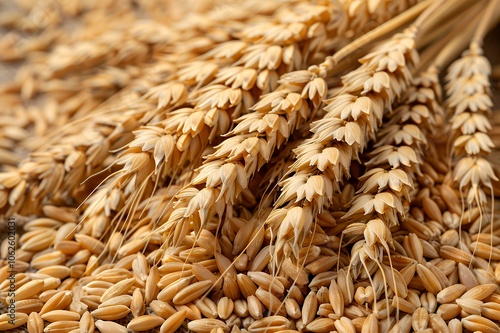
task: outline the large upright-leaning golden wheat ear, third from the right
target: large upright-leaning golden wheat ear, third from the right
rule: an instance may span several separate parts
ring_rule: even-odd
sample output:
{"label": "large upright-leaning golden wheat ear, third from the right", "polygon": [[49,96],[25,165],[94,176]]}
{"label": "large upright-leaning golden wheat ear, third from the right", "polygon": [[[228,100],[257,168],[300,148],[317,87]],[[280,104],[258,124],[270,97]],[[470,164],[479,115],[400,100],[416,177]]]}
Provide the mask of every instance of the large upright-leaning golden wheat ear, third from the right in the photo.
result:
{"label": "large upright-leaning golden wheat ear, third from the right", "polygon": [[[328,113],[312,124],[312,138],[295,150],[297,160],[290,170],[293,176],[281,183],[282,193],[275,203],[275,207],[285,205],[282,216],[310,211],[304,213],[301,222],[304,226],[310,225],[313,214],[323,211],[334,189],[339,189],[335,184],[349,177],[351,160],[364,150],[384,112],[411,80],[410,70],[418,61],[415,32],[414,28],[407,29],[382,43],[361,59],[361,67],[343,77],[343,87],[327,101]],[[309,230],[283,224],[280,218],[269,219],[267,223],[281,235],[275,246],[275,263],[282,258],[285,243],[301,243],[293,230],[304,234]]]}

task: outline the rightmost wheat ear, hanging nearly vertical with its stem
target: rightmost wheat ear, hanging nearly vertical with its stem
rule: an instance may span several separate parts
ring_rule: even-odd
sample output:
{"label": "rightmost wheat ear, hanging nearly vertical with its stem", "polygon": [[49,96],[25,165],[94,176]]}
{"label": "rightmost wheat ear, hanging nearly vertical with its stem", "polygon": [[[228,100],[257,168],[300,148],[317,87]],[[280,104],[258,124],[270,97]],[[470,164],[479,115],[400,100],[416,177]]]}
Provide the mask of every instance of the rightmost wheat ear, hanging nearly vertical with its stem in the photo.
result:
{"label": "rightmost wheat ear, hanging nearly vertical with its stem", "polygon": [[[469,206],[484,208],[487,195],[483,186],[493,193],[492,181],[498,180],[493,166],[485,156],[494,147],[488,136],[493,102],[490,97],[491,65],[483,56],[482,39],[490,21],[498,15],[498,1],[485,8],[486,18],[479,24],[472,42],[462,57],[448,69],[446,105],[453,131],[453,178]],[[492,199],[493,200],[493,199]]]}

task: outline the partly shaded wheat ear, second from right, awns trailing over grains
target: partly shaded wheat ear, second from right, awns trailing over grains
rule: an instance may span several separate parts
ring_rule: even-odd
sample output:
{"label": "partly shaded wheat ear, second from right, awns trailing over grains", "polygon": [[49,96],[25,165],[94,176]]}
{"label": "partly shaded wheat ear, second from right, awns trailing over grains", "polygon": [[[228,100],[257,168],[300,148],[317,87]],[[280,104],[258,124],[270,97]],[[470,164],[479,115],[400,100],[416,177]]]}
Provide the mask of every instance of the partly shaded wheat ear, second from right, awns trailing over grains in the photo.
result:
{"label": "partly shaded wheat ear, second from right, awns trailing over grains", "polygon": [[[413,79],[401,104],[388,114],[384,126],[377,133],[375,149],[370,153],[373,157],[365,162],[368,169],[359,177],[358,194],[352,199],[352,206],[347,213],[342,216],[342,219],[351,222],[342,232],[342,238],[344,235],[352,238],[360,234],[364,238],[352,248],[353,260],[348,273],[352,269],[354,278],[357,278],[367,267],[364,260],[376,262],[384,281],[395,293],[393,305],[398,313],[403,308],[400,297],[406,297],[407,289],[396,288],[396,276],[391,273],[393,263],[390,253],[395,241],[389,227],[398,225],[400,219],[404,220],[405,202],[409,202],[417,175],[421,174],[423,149],[428,144],[426,137],[432,133],[434,113],[439,108],[436,101],[439,91],[435,90],[438,86],[437,71],[433,68]],[[383,251],[389,258],[389,268],[379,262]],[[370,276],[372,271],[366,271],[366,274]],[[376,288],[374,282],[370,282]],[[385,294],[388,295],[387,289]],[[378,300],[378,297],[374,298],[374,302]],[[376,312],[376,303],[373,307]],[[397,314],[396,317],[398,316]]]}

